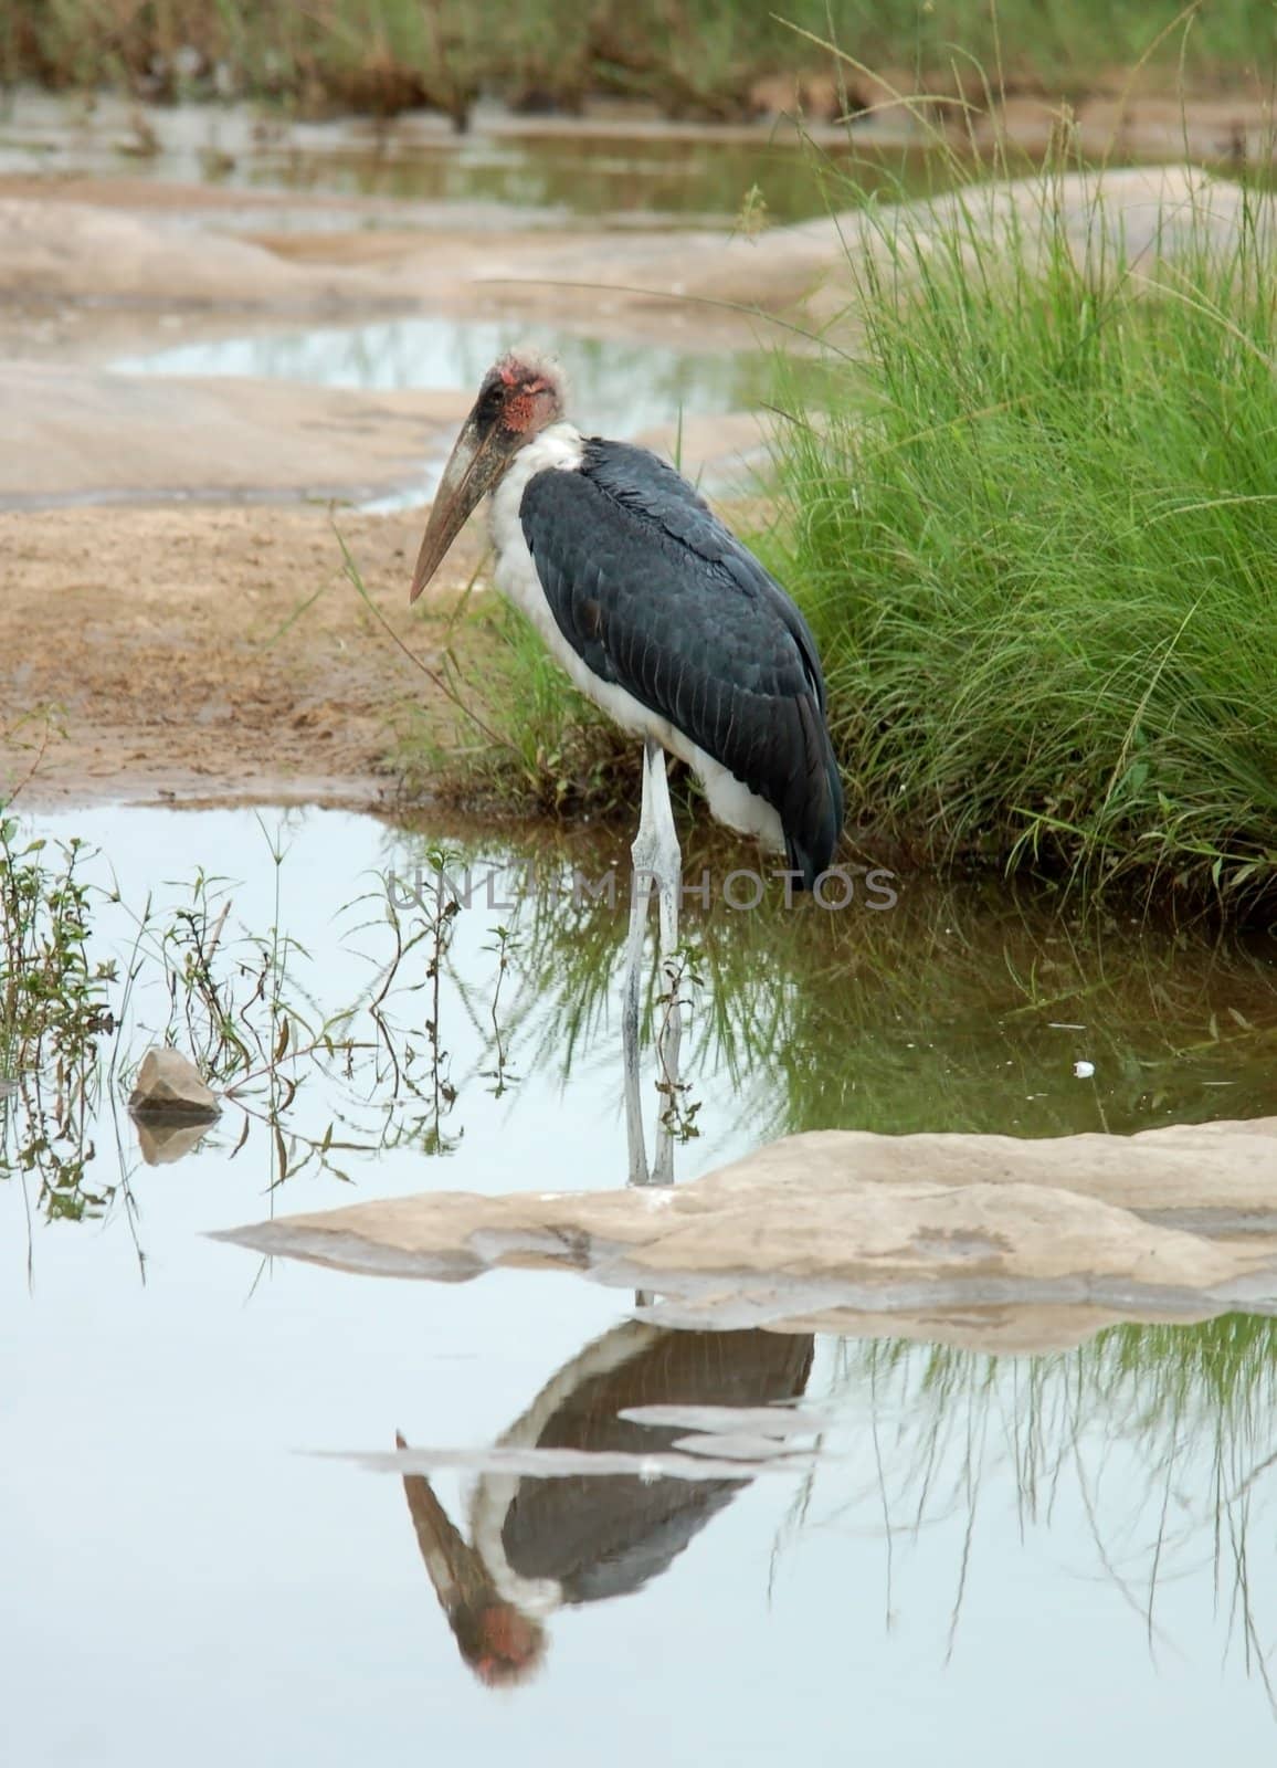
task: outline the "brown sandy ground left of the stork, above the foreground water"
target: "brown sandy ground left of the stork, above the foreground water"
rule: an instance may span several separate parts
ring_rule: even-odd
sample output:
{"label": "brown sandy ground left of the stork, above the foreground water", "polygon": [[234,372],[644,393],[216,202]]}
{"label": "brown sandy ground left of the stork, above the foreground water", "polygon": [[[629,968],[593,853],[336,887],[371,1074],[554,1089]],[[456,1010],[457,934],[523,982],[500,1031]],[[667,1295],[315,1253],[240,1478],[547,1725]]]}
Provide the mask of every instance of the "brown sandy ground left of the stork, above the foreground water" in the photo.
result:
{"label": "brown sandy ground left of the stork, above the foreground water", "polygon": [[[340,527],[375,605],[437,661],[437,608],[474,546],[410,617],[421,516],[347,513]],[[23,806],[375,806],[396,720],[430,695],[347,582],[324,509],[0,514],[0,781],[35,769]]]}

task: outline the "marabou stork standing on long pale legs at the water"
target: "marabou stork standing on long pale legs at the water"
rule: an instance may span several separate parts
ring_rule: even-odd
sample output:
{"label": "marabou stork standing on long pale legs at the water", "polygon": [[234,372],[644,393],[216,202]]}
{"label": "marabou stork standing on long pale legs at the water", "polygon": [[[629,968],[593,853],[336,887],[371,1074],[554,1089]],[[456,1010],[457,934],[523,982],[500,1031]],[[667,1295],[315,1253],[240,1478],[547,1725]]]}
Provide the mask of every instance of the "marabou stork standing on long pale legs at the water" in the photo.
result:
{"label": "marabou stork standing on long pale legs at the water", "polygon": [[[490,495],[497,587],[571,681],[644,741],[623,1034],[630,1146],[638,1149],[631,1179],[646,1179],[635,1119],[647,891],[654,882],[670,979],[681,889],[665,751],[692,767],[720,822],[784,852],[805,889],[833,857],[842,781],[815,642],[785,591],[672,467],[628,442],[582,435],[564,405],[562,371],[538,350],[511,350],[488,370],[444,469],[410,599]],[[677,1036],[670,983],[660,1040],[667,1078]],[[667,1137],[654,1176],[669,1179],[670,1163]]]}

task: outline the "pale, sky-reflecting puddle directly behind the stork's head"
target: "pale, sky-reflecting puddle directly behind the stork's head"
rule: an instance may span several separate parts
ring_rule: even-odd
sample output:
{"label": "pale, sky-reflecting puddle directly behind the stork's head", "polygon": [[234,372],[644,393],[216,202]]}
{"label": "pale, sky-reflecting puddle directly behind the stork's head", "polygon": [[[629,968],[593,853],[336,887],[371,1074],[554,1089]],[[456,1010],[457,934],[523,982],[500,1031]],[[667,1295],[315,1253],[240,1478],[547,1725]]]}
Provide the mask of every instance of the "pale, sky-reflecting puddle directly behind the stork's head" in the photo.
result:
{"label": "pale, sky-reflecting puddle directly behind the stork's head", "polygon": [[[768,357],[746,350],[670,350],[545,327],[534,334],[568,370],[573,407],[587,414],[589,428],[621,438],[676,423],[681,414],[715,415],[757,405],[769,373]],[[527,336],[525,322],[375,320],[175,345],[111,366],[127,375],[230,375],[379,392],[400,387],[472,392],[501,352]],[[449,447],[451,437],[423,461],[419,477],[364,507],[401,509],[433,497]]]}

